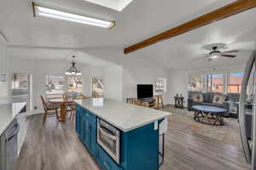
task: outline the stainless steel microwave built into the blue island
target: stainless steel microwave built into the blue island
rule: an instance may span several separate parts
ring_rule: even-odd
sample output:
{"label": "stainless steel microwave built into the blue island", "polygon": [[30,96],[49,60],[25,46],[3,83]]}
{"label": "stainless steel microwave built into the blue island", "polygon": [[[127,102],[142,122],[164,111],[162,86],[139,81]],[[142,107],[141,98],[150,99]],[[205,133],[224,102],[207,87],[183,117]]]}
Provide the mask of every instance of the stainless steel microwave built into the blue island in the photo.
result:
{"label": "stainless steel microwave built into the blue island", "polygon": [[119,129],[113,127],[102,119],[97,119],[97,143],[119,164],[120,137]]}

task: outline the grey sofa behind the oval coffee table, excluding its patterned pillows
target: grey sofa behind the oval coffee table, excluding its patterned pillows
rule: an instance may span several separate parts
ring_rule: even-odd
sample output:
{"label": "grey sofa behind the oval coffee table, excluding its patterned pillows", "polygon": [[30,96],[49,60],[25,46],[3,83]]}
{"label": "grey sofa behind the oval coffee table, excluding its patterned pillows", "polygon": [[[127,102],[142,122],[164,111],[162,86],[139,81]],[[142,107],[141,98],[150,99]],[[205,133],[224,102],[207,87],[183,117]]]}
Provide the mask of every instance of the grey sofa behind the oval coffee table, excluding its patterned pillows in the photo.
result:
{"label": "grey sofa behind the oval coffee table, excluding its patterned pillows", "polygon": [[[203,102],[194,102],[193,101],[193,95],[194,94],[202,94],[203,95]],[[192,106],[193,105],[212,105],[212,106],[217,106],[221,107],[227,110],[225,116],[230,116],[230,111],[232,110],[233,107],[235,107],[234,102],[238,102],[240,98],[240,94],[226,94],[226,99],[224,104],[213,104],[212,99],[214,97],[214,94],[218,93],[202,93],[202,92],[195,92],[195,91],[189,91],[189,96],[188,96],[188,110],[192,111]]]}

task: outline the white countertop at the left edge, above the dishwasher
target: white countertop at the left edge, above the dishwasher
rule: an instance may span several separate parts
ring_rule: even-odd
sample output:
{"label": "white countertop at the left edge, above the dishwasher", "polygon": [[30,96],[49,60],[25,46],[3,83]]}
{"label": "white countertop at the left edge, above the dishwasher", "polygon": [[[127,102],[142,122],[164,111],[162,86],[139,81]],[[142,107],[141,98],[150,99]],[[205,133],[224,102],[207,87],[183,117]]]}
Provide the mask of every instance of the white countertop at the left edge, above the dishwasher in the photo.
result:
{"label": "white countertop at the left edge, above the dishwasher", "polygon": [[26,102],[0,105],[0,135],[20,113]]}

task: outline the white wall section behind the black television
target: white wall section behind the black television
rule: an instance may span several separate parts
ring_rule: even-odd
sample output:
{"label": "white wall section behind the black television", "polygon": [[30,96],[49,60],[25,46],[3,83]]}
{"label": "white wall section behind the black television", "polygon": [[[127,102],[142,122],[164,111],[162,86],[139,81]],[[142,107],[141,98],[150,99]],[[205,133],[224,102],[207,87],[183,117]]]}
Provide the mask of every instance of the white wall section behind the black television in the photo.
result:
{"label": "white wall section behind the black television", "polygon": [[[137,84],[154,84],[159,77],[166,78],[164,104],[170,103],[170,71],[136,54],[127,54],[123,59],[123,98],[137,97]],[[154,93],[155,94],[155,93]]]}

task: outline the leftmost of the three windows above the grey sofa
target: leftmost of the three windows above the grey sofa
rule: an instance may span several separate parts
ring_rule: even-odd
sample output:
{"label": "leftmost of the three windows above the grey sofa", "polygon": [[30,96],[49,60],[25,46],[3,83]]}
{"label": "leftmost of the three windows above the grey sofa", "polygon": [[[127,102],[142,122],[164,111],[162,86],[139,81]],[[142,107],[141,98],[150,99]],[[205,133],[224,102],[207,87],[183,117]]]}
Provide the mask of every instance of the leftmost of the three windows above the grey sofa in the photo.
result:
{"label": "leftmost of the three windows above the grey sofa", "polygon": [[203,90],[203,76],[190,75],[189,76],[189,90],[202,91]]}

